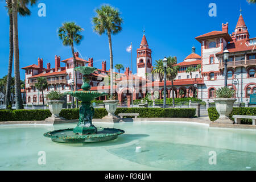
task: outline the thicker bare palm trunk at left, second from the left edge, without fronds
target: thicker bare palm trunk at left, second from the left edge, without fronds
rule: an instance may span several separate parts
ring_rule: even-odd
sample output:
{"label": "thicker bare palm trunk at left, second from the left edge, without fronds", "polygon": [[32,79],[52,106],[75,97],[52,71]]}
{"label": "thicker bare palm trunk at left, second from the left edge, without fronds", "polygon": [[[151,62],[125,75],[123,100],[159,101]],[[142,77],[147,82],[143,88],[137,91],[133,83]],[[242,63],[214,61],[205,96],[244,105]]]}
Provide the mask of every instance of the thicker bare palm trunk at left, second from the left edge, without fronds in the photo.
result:
{"label": "thicker bare palm trunk at left, second from the left edge, without fronds", "polygon": [[14,44],[14,80],[15,80],[15,106],[16,109],[23,109],[22,96],[20,93],[20,75],[19,75],[19,39],[18,39],[18,0],[12,0],[13,7],[13,44]]}

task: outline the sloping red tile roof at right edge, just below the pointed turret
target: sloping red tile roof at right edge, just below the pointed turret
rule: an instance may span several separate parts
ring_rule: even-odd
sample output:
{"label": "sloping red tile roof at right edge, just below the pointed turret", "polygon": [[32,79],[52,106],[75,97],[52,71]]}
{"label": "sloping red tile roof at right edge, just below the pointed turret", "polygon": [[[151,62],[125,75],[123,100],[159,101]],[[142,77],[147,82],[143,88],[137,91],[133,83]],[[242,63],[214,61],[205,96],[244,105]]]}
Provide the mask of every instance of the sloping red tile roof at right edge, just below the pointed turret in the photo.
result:
{"label": "sloping red tile roof at right edge, just below the pointed turret", "polygon": [[[230,42],[227,46],[227,49],[229,52],[241,52],[241,51],[250,51],[255,49],[255,46],[249,46],[249,43],[247,42],[248,39],[239,40],[237,42]],[[246,43],[247,42],[247,43]],[[246,44],[248,46],[246,46]],[[222,54],[223,51],[216,53]]]}

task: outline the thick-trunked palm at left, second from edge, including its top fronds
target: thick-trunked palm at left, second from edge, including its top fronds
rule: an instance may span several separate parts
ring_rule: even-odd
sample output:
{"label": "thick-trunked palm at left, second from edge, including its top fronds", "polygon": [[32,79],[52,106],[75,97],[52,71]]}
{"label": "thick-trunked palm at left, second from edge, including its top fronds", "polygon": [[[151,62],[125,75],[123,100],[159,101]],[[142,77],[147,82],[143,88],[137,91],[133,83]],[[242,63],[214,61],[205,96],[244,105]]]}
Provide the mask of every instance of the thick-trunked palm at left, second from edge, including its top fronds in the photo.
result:
{"label": "thick-trunked palm at left, second from edge, including its top fronds", "polygon": [[[20,9],[28,10],[28,4],[34,5],[36,0],[11,0],[11,13],[13,14],[13,45],[14,45],[14,79],[15,79],[15,105],[16,109],[23,109],[20,92],[19,73],[19,38],[18,38],[18,12]],[[23,11],[22,11],[23,12]]]}

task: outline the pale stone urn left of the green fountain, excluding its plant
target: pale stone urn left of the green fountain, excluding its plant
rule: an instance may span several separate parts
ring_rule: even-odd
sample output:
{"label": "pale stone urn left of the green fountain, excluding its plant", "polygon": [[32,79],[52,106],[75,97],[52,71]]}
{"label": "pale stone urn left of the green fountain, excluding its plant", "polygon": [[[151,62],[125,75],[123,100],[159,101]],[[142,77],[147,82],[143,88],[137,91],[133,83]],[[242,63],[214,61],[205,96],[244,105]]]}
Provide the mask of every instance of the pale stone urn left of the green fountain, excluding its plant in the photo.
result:
{"label": "pale stone urn left of the green fountain, excluding its plant", "polygon": [[49,110],[51,111],[52,115],[49,118],[46,118],[45,121],[48,122],[55,122],[55,121],[63,121],[66,120],[63,117],[60,117],[60,111],[62,110],[62,106],[64,101],[62,100],[51,100],[47,102],[49,105]]}

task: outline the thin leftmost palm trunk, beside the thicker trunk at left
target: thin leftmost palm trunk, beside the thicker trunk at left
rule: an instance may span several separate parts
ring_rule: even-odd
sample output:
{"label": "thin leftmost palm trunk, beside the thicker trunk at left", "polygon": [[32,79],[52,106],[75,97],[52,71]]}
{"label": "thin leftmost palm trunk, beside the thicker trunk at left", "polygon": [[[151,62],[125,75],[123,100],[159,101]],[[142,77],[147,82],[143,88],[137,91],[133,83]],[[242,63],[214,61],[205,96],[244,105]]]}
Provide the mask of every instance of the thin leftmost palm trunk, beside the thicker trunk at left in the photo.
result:
{"label": "thin leftmost palm trunk, beside the thicker trunk at left", "polygon": [[5,108],[7,109],[9,105],[11,105],[11,73],[13,70],[13,14],[9,14],[9,66],[8,66],[8,76],[6,82],[6,92],[5,92]]}

